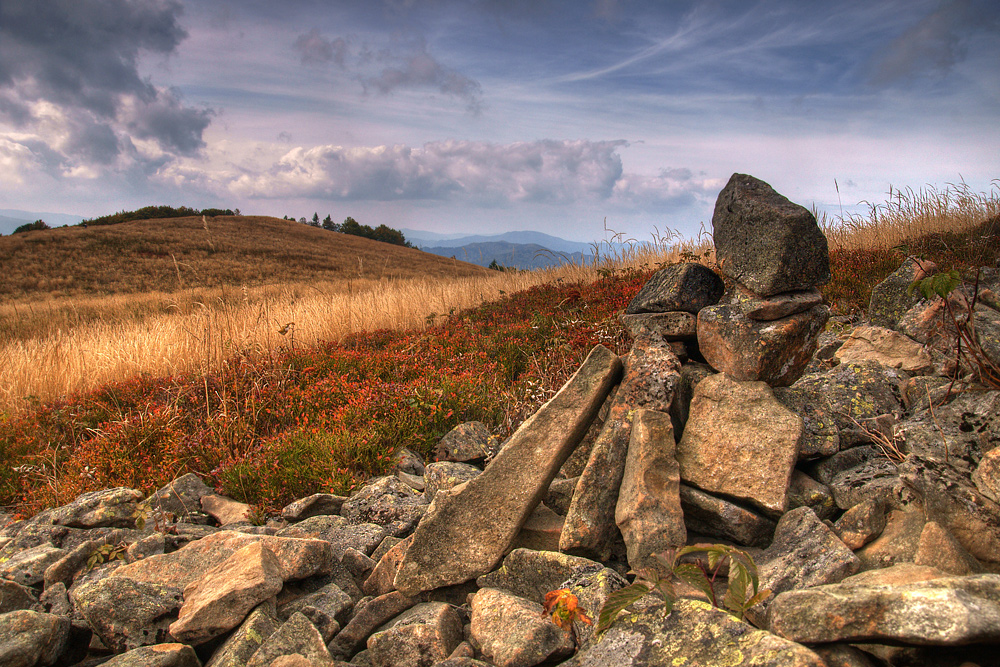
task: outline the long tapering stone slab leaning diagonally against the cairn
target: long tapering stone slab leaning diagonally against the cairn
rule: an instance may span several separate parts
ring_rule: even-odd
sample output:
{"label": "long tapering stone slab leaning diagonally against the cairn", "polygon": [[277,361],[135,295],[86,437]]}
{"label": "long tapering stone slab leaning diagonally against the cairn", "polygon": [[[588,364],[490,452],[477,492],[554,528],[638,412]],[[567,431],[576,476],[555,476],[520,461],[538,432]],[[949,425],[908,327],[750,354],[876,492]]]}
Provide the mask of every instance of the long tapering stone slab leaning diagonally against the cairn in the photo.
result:
{"label": "long tapering stone slab leaning diagonally against the cairn", "polygon": [[595,347],[481,475],[438,492],[403,557],[396,589],[415,595],[492,570],[583,439],[621,368],[616,354]]}

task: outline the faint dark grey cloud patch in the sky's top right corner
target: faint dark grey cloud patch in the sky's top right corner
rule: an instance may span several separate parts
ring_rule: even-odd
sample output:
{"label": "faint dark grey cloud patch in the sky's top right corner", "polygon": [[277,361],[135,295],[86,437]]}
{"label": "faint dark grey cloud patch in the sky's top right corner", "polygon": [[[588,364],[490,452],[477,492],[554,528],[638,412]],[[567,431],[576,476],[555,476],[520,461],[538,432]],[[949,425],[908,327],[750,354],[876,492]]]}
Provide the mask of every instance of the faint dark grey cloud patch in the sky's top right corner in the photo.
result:
{"label": "faint dark grey cloud patch in the sky's top right corner", "polygon": [[917,75],[947,74],[967,53],[977,19],[969,0],[943,3],[889,43],[872,63],[870,81],[887,85]]}

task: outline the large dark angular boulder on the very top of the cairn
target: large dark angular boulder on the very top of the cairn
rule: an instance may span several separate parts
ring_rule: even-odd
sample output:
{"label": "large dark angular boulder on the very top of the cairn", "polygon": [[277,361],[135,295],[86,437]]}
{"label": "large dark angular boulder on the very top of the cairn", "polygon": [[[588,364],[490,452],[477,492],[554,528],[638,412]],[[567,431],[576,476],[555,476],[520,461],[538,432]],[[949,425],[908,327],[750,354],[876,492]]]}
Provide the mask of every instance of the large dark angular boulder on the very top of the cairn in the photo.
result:
{"label": "large dark angular boulder on the very top of the cairn", "polygon": [[808,209],[753,176],[733,174],[712,216],[722,272],[761,296],[830,281],[826,237]]}

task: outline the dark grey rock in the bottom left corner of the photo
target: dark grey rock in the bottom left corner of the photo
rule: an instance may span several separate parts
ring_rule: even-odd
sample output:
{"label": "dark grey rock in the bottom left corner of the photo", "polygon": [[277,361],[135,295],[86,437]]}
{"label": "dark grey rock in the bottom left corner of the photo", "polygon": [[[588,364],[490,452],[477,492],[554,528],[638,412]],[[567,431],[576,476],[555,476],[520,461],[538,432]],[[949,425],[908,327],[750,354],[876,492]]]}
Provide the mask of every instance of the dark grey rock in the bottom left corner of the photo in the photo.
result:
{"label": "dark grey rock in the bottom left corner of the photo", "polygon": [[69,619],[36,611],[0,614],[0,665],[54,665],[69,639]]}

